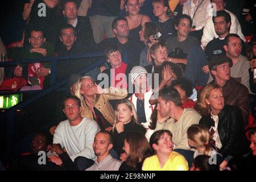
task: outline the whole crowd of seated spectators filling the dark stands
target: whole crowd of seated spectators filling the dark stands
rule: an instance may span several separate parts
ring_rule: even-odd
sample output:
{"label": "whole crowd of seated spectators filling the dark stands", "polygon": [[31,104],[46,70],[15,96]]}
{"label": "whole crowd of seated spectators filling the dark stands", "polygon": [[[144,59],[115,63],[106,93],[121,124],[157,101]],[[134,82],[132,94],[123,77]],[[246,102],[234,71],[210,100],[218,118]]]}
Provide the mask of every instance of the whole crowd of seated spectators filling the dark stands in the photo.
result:
{"label": "whole crowd of seated spectators filling the dark stands", "polygon": [[[39,3],[47,16],[38,16]],[[23,39],[6,50],[9,59],[104,52],[106,63],[78,75],[88,60],[59,61],[57,80],[71,82],[63,100],[67,120],[36,133],[31,151],[16,156],[10,169],[255,169],[256,36],[245,42],[225,6],[225,0],[27,1]],[[255,7],[246,15],[251,20]],[[49,63],[19,64],[3,75],[27,80],[20,91],[51,86]],[[45,165],[38,164],[40,151]]]}

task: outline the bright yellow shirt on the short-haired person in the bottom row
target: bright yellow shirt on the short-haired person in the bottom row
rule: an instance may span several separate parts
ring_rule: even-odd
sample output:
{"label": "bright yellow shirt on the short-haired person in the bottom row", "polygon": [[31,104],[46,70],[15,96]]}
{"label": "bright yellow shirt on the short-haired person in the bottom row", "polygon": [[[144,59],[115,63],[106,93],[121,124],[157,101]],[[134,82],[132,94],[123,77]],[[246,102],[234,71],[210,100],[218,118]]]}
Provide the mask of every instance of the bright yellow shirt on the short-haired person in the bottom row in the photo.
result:
{"label": "bright yellow shirt on the short-haired person in the bottom row", "polygon": [[143,171],[188,171],[188,162],[183,155],[172,151],[169,159],[164,164],[163,168],[159,165],[157,155],[153,155],[144,160]]}

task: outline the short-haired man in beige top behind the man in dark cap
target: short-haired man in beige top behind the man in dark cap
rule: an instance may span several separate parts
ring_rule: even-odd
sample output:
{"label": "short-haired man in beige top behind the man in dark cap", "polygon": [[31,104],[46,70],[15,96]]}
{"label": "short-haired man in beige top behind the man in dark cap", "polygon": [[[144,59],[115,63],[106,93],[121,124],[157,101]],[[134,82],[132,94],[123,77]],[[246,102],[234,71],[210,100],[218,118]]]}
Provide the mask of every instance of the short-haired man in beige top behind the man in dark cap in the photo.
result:
{"label": "short-haired man in beige top behind the man in dark cap", "polygon": [[[230,76],[236,78],[238,82],[245,85],[249,90],[249,93],[251,93],[248,73],[250,62],[245,56],[241,55],[242,40],[237,34],[229,34],[225,37],[224,43],[226,56],[230,57],[233,63],[233,66],[230,68]],[[208,83],[212,80],[212,77],[209,77]]]}

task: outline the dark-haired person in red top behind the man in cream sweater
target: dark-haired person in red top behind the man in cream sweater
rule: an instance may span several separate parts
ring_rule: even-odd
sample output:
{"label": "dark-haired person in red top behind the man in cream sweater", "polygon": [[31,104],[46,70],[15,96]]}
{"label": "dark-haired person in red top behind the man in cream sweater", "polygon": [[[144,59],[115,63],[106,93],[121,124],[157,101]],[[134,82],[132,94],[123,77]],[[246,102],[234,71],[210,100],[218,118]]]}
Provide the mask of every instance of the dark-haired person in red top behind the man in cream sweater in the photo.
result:
{"label": "dark-haired person in red top behind the man in cream sweater", "polygon": [[172,81],[172,88],[180,94],[180,101],[183,108],[194,108],[195,102],[191,99],[193,94],[192,82],[186,78],[180,78]]}

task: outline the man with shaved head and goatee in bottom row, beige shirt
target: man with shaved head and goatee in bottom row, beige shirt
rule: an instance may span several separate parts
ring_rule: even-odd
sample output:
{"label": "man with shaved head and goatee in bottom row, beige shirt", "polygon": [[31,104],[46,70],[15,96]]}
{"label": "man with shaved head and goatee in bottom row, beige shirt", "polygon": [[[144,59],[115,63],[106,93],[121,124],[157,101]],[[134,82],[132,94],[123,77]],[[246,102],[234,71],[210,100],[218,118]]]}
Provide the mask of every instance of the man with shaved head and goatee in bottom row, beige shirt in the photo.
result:
{"label": "man with shaved head and goatee in bottom row, beige shirt", "polygon": [[112,158],[109,151],[113,148],[113,138],[108,131],[100,131],[95,135],[93,150],[97,159],[86,171],[118,171],[122,162]]}

